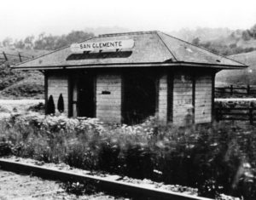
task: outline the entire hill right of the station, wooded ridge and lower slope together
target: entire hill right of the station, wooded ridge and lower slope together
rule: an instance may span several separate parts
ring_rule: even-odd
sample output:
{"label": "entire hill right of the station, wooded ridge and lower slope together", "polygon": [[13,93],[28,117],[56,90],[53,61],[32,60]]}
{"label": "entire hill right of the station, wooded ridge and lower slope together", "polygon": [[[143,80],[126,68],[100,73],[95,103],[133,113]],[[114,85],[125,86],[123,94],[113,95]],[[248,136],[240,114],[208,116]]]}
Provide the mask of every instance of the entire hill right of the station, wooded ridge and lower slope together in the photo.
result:
{"label": "entire hill right of the station, wooded ridge and lower slope together", "polygon": [[244,70],[218,72],[217,85],[256,85],[256,25],[247,30],[199,27],[195,30],[182,29],[170,34],[249,66]]}

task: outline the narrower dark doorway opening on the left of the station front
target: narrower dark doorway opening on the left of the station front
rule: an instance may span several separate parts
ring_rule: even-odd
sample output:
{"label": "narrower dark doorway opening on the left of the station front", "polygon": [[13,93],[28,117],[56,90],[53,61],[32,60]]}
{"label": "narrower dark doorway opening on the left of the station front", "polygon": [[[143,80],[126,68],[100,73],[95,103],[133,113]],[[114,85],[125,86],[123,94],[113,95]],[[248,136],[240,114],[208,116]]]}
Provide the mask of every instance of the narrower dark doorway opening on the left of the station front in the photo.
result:
{"label": "narrower dark doorway opening on the left of the station front", "polygon": [[94,76],[84,72],[78,81],[78,116],[95,117]]}

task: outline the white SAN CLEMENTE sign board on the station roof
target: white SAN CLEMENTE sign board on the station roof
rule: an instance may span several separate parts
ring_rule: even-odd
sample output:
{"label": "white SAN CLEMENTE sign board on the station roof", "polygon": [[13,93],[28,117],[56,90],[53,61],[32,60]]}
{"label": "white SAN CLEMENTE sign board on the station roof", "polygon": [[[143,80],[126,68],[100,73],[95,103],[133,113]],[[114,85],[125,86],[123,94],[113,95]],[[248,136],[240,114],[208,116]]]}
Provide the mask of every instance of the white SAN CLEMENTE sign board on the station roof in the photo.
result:
{"label": "white SAN CLEMENTE sign board on the station roof", "polygon": [[133,46],[134,40],[129,39],[96,43],[73,43],[70,49],[75,53],[83,53],[84,51],[131,49]]}

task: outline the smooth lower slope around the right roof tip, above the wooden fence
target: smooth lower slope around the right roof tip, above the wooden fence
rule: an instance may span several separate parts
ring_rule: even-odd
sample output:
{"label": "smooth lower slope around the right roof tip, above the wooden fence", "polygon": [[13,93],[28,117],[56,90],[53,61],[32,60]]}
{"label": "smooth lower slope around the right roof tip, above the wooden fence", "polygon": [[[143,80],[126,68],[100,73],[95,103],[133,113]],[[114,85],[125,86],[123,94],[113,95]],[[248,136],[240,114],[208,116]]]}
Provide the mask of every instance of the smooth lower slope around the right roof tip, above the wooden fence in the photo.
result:
{"label": "smooth lower slope around the right roof tip, above the wooden fence", "polygon": [[231,55],[230,58],[240,61],[249,67],[243,70],[220,71],[216,76],[216,83],[256,85],[256,51],[244,54],[234,54]]}

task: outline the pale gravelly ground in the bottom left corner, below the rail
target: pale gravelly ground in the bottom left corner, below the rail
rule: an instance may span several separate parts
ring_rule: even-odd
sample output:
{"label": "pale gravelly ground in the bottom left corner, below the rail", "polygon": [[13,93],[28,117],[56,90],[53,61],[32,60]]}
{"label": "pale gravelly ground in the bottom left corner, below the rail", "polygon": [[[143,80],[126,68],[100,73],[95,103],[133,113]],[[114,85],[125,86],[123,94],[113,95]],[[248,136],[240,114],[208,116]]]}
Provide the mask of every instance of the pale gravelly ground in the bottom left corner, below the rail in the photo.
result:
{"label": "pale gravelly ground in the bottom left corner, below the rail", "polygon": [[[90,196],[75,196],[68,194],[61,183],[52,180],[42,180],[38,177],[15,174],[0,169],[0,200],[30,200],[30,199],[117,199],[102,193]],[[118,198],[124,199],[124,198]]]}

